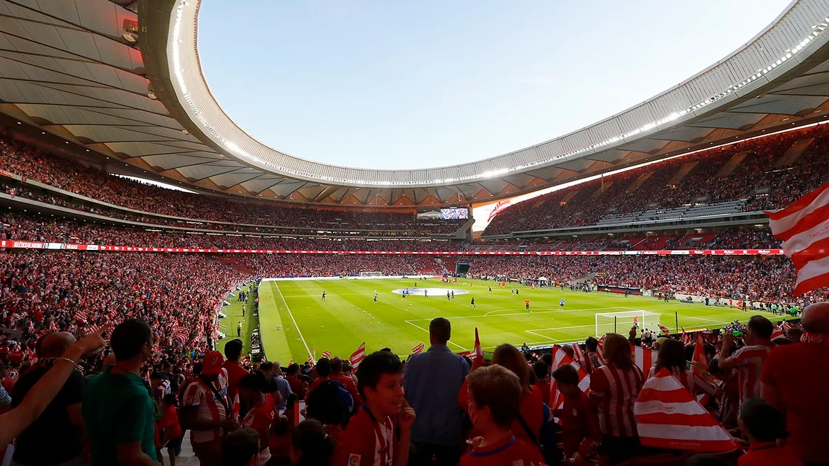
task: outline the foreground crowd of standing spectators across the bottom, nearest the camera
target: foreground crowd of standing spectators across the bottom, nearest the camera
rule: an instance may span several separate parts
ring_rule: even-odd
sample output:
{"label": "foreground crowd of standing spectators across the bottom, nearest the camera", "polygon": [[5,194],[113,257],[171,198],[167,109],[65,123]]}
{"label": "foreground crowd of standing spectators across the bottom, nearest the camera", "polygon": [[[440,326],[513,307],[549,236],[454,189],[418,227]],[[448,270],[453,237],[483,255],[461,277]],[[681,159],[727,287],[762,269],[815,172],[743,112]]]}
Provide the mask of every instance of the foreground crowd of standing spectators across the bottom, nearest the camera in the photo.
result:
{"label": "foreground crowd of standing spectators across the bottom, nearest the camera", "polygon": [[[27,355],[39,359],[3,380],[12,396],[0,404],[0,442],[17,438],[14,464],[149,465],[166,463],[164,449],[175,464],[185,436],[203,466],[829,464],[819,428],[829,303],[779,336],[759,315],[724,330],[657,336],[633,323],[628,336],[549,352],[502,344],[488,358],[454,354],[451,323],[434,318],[428,350],[405,361],[384,348],[353,366],[337,355],[250,363],[232,340],[224,356],[205,348],[174,368],[153,349],[156,330],[127,318],[109,342],[46,332]],[[0,360],[16,364],[10,349]],[[642,352],[648,362],[634,357]],[[676,389],[657,381],[666,376]],[[643,414],[659,392],[666,410],[691,403],[701,414],[675,424]],[[707,420],[728,432],[724,445],[703,446]],[[43,439],[57,443],[44,449]]]}

